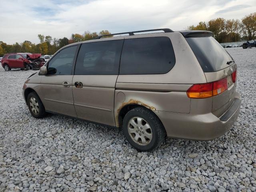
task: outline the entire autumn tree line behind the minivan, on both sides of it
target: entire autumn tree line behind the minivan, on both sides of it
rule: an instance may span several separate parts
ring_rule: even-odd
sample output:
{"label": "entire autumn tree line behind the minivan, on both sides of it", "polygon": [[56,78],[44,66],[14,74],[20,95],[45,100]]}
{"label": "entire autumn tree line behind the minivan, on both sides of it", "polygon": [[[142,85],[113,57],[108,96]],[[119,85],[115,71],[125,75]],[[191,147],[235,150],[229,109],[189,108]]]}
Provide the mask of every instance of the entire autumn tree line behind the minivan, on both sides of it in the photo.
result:
{"label": "entire autumn tree line behind the minivan, on both sides of it", "polygon": [[[242,20],[225,20],[224,18],[212,19],[208,22],[199,22],[198,25],[188,26],[188,30],[208,30],[213,32],[213,37],[220,43],[236,42],[240,40],[252,40],[256,38],[256,12],[244,16]],[[65,45],[94,39],[100,35],[108,35],[108,30],[102,30],[99,33],[85,31],[84,34],[71,34],[68,39],[52,38],[38,34],[39,44],[34,44],[30,41],[8,45],[0,41],[0,56],[10,52],[30,52],[41,53],[43,55],[52,55],[58,49]],[[107,36],[110,37],[110,36]]]}

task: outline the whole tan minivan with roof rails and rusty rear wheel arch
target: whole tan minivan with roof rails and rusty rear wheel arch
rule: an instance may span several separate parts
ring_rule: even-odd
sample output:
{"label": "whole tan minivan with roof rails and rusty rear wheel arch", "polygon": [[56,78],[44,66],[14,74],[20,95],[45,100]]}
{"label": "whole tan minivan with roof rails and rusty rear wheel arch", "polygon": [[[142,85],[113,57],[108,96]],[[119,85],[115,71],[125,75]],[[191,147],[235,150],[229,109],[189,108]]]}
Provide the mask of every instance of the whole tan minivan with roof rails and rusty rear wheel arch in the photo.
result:
{"label": "whole tan minivan with roof rails and rusty rear wheel arch", "polygon": [[120,34],[69,44],[30,76],[23,97],[32,116],[50,112],[122,128],[140,151],[166,135],[211,140],[234,124],[237,66],[212,32]]}

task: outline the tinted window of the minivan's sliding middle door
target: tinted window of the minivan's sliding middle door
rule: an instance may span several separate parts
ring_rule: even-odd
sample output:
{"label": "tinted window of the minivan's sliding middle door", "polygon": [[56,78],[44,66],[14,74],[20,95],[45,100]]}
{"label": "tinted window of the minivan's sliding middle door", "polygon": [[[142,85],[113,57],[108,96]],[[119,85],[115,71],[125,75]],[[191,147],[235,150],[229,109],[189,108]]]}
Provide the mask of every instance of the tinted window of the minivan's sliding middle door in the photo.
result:
{"label": "tinted window of the minivan's sliding middle door", "polygon": [[123,40],[82,44],[76,60],[76,75],[118,74]]}

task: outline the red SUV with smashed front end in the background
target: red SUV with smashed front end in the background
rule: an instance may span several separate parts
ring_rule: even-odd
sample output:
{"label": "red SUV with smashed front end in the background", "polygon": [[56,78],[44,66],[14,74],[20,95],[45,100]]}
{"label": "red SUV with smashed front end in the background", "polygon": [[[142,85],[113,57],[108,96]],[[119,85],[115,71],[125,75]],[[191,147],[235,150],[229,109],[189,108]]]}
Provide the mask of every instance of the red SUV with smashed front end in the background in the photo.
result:
{"label": "red SUV with smashed front end in the background", "polygon": [[45,63],[45,60],[40,58],[41,54],[31,53],[8,53],[2,58],[2,67],[6,71],[11,69],[39,69]]}

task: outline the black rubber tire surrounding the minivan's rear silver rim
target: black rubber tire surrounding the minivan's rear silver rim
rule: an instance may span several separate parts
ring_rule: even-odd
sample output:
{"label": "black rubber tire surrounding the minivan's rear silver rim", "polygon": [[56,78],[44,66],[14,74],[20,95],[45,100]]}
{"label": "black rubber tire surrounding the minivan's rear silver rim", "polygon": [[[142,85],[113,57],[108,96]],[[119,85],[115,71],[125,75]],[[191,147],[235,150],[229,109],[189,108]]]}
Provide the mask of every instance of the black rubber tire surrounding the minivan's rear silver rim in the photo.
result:
{"label": "black rubber tire surrounding the minivan's rear silver rim", "polygon": [[[150,142],[148,144],[142,145],[142,144],[136,143],[136,141],[134,141],[132,136],[129,134],[128,124],[129,124],[130,120],[132,120],[133,118],[136,118],[136,117],[144,119],[145,122],[148,123],[151,128],[152,139],[150,140]],[[134,127],[134,129],[135,129],[135,127]],[[137,128],[137,129],[138,129],[138,131],[140,131],[139,128]],[[162,123],[160,122],[160,120],[158,119],[156,114],[154,114],[152,111],[150,111],[146,108],[143,108],[143,107],[136,107],[136,108],[130,110],[124,116],[124,120],[122,123],[122,130],[123,130],[124,136],[126,137],[128,142],[134,148],[136,148],[138,151],[150,151],[150,150],[153,150],[154,148],[159,147],[162,144],[162,142],[164,142],[164,139],[166,136],[164,126],[162,125]],[[144,132],[142,132],[142,133],[144,134]],[[134,134],[136,134],[136,133],[134,133]]]}

